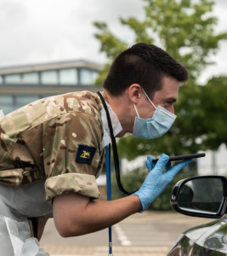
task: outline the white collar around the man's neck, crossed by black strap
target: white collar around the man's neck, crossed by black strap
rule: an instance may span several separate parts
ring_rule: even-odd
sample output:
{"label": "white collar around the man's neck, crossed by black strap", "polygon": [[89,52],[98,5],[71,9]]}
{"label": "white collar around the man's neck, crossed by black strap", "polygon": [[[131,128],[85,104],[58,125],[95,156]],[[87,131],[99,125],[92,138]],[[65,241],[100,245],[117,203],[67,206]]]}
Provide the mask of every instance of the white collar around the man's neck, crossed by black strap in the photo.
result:
{"label": "white collar around the man's neck, crossed by black strap", "polygon": [[[104,91],[100,91],[101,95],[104,97],[105,99],[105,103],[106,106],[109,110],[110,116],[111,116],[111,123],[112,123],[112,127],[113,127],[113,133],[114,136],[116,137],[116,135],[122,131],[122,125],[119,122],[119,119],[116,116],[116,113],[113,112],[107,97],[105,96],[105,92]],[[105,113],[105,108],[102,108],[101,110],[101,119],[103,122],[103,130],[104,130],[104,135],[103,135],[103,140],[101,143],[101,147],[100,150],[102,150],[103,148],[105,148],[105,146],[109,145],[111,143],[111,133],[110,133],[110,129],[109,129],[109,125],[108,125],[108,121],[107,121],[107,117],[106,117],[106,113]]]}

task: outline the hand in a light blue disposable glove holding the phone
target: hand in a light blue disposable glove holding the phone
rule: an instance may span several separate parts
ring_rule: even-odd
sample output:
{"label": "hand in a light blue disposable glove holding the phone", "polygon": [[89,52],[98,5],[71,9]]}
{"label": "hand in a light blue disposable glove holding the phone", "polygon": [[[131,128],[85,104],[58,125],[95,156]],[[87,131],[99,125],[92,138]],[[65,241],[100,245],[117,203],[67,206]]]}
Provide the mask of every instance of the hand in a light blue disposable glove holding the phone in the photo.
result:
{"label": "hand in a light blue disposable glove holding the phone", "polygon": [[[192,161],[184,160],[172,168],[171,162],[168,161],[169,157],[167,154],[162,154],[156,164],[153,163],[152,160],[152,156],[149,155],[145,162],[149,173],[140,189],[132,194],[139,196],[143,207],[141,212],[144,212],[145,209],[150,206],[150,203],[167,188],[168,184],[173,180],[173,177]],[[164,166],[166,172],[163,173]]]}

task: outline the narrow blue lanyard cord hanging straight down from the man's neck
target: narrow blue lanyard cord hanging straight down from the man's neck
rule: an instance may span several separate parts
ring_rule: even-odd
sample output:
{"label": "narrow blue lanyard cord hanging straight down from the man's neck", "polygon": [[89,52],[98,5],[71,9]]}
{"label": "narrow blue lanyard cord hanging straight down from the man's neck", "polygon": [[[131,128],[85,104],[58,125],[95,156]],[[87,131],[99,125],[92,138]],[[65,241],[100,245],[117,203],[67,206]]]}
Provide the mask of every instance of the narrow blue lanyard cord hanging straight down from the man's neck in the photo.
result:
{"label": "narrow blue lanyard cord hanging straight down from the man's neck", "polygon": [[[107,201],[111,201],[111,144],[105,147]],[[112,254],[112,228],[109,227],[109,255]]]}

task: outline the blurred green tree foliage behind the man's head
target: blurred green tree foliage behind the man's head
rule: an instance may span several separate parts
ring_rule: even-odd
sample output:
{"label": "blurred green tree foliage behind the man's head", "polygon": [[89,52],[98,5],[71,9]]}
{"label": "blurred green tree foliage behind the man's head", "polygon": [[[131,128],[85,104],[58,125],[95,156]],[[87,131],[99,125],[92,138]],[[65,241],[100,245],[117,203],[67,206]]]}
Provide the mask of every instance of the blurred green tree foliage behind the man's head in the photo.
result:
{"label": "blurred green tree foliage behind the man's head", "polygon": [[[215,34],[218,19],[211,15],[213,1],[200,0],[144,0],[145,20],[131,17],[120,19],[135,35],[134,43],[157,44],[187,67],[190,79],[179,90],[175,104],[178,118],[163,137],[141,140],[125,136],[118,141],[119,154],[133,159],[139,154],[190,154],[199,149],[217,149],[227,144],[225,119],[227,116],[226,77],[210,79],[199,86],[201,71],[210,64],[209,57],[218,50],[218,42],[227,39],[227,32]],[[94,22],[99,29],[95,35],[109,62],[100,72],[96,84],[102,84],[111,61],[130,45],[116,38],[105,22]],[[156,40],[158,38],[158,42]]]}

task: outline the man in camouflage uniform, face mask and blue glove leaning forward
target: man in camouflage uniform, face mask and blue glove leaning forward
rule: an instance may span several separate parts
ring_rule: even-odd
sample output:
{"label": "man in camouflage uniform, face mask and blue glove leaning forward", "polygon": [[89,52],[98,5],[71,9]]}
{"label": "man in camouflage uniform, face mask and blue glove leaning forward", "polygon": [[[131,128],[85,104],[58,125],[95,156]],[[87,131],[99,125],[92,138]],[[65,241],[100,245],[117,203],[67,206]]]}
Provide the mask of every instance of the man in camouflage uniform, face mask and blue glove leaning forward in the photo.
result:
{"label": "man in camouflage uniform, face mask and blue glove leaning forward", "polygon": [[[135,44],[117,55],[101,92],[114,136],[162,136],[176,118],[173,103],[179,82],[187,79],[185,67],[155,45]],[[9,219],[19,222],[53,212],[63,237],[102,230],[144,211],[190,163],[185,160],[172,168],[162,154],[154,165],[149,156],[149,174],[138,192],[116,201],[94,201],[99,198],[95,179],[109,143],[105,109],[98,94],[89,91],[50,96],[0,119],[0,195],[1,204],[10,209]],[[164,166],[167,172],[162,173]],[[0,211],[0,218],[4,214]],[[5,237],[9,219],[2,224],[8,228]],[[47,219],[39,218],[38,239]],[[0,252],[3,247],[1,243]]]}

